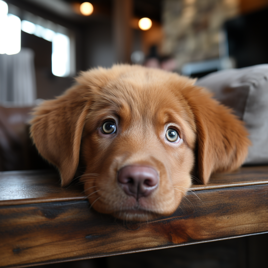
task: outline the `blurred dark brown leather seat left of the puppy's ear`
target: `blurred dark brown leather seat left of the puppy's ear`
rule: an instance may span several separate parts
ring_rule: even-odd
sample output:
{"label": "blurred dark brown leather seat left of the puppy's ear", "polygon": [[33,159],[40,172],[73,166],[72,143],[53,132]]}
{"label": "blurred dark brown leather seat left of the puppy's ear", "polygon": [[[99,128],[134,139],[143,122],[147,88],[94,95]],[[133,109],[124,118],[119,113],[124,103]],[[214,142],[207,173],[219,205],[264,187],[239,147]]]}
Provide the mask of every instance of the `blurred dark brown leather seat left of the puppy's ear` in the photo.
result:
{"label": "blurred dark brown leather seat left of the puppy's ear", "polygon": [[31,109],[0,106],[0,171],[50,168],[29,137]]}

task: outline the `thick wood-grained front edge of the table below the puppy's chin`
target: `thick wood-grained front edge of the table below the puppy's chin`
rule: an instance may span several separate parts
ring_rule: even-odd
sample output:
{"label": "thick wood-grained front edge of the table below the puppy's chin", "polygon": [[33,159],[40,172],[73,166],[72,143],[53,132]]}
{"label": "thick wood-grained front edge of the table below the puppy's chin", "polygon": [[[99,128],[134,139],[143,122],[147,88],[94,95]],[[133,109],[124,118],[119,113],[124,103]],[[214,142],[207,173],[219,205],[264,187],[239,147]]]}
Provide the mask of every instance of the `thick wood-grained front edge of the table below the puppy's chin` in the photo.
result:
{"label": "thick wood-grained front edge of the table below the puppy's chin", "polygon": [[87,200],[2,206],[1,266],[94,258],[268,231],[267,184],[188,192],[186,198],[173,215],[140,224],[96,213]]}

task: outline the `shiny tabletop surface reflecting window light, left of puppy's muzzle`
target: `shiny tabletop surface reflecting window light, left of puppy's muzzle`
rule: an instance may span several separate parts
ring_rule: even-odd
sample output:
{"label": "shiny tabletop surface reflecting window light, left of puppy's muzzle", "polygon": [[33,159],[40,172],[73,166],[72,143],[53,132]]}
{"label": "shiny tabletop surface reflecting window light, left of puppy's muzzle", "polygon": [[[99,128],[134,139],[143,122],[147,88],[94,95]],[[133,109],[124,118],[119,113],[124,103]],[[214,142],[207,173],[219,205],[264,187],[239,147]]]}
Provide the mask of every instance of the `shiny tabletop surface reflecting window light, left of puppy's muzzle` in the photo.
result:
{"label": "shiny tabletop surface reflecting window light, left of puppy's muzzle", "polygon": [[84,199],[82,186],[61,187],[53,170],[0,172],[0,206]]}

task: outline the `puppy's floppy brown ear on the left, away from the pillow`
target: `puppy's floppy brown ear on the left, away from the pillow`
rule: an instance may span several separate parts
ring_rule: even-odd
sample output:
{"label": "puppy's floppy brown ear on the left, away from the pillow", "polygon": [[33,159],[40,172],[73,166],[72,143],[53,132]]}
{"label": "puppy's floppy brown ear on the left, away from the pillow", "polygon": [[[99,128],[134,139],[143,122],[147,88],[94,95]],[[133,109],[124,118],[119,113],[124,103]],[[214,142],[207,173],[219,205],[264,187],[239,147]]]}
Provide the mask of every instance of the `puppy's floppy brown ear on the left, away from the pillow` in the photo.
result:
{"label": "puppy's floppy brown ear on the left, away from the pillow", "polygon": [[39,153],[57,166],[62,186],[75,175],[82,131],[88,113],[86,87],[76,85],[57,99],[44,101],[35,108],[31,137]]}

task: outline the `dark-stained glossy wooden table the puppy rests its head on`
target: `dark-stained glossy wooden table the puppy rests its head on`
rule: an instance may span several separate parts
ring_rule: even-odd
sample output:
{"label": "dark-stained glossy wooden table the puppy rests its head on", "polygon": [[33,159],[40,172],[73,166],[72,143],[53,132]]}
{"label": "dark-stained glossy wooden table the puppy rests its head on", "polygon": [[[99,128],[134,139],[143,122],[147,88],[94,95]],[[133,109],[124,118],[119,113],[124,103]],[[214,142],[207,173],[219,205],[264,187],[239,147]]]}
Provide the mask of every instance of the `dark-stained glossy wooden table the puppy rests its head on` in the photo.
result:
{"label": "dark-stained glossy wooden table the puppy rests its head on", "polygon": [[25,267],[268,232],[268,166],[193,185],[177,211],[131,225],[96,213],[49,171],[0,173],[0,266]]}

